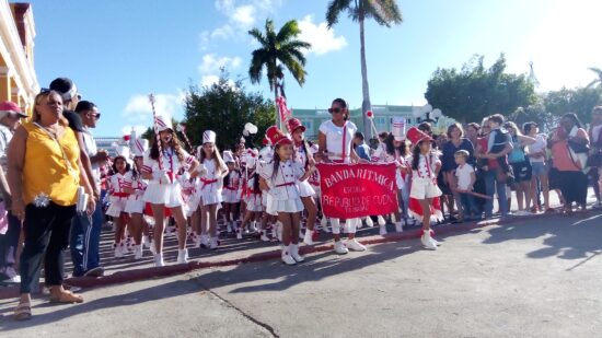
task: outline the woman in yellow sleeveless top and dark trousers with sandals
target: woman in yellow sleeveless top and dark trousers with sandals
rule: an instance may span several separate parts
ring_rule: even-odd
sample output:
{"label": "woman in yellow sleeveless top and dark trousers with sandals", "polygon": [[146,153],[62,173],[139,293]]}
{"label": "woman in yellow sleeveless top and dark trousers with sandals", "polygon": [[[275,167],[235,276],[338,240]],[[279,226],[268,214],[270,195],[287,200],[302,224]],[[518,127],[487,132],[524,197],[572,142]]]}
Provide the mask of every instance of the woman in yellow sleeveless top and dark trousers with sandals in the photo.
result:
{"label": "woman in yellow sleeveless top and dark trousers with sandals", "polygon": [[[59,93],[46,91],[35,97],[33,119],[20,126],[9,147],[9,187],[12,213],[23,221],[25,246],[21,255],[21,300],[15,319],[28,319],[31,291],[44,261],[50,302],[81,303],[81,295],[62,288],[62,250],[69,243],[76,214],[78,187],[92,195],[81,171],[76,136],[62,117]],[[88,212],[95,208],[89,198]]]}

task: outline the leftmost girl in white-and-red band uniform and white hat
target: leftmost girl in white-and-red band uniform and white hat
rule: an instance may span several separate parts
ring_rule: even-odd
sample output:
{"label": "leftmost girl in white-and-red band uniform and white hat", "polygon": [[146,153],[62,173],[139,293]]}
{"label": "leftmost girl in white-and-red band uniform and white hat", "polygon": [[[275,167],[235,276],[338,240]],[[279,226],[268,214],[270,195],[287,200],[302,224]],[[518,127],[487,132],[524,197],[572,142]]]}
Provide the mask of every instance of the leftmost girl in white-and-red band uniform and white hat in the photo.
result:
{"label": "leftmost girl in white-and-red band uniform and white hat", "polygon": [[121,258],[127,254],[125,244],[127,214],[125,213],[126,201],[129,194],[126,191],[127,182],[131,179],[131,167],[127,162],[129,149],[117,148],[118,155],[113,160],[113,175],[108,178],[109,207],[106,214],[113,217],[115,224],[115,258]]}

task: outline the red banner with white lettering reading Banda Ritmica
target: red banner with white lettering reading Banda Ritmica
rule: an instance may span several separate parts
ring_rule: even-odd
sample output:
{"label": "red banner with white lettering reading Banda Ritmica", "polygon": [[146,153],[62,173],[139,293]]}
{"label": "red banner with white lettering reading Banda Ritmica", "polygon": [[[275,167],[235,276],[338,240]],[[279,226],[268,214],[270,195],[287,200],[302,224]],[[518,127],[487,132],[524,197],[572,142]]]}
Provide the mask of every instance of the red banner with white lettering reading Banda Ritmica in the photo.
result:
{"label": "red banner with white lettering reading Banda Ritmica", "polygon": [[394,163],[319,163],[316,167],[325,215],[355,219],[397,210]]}

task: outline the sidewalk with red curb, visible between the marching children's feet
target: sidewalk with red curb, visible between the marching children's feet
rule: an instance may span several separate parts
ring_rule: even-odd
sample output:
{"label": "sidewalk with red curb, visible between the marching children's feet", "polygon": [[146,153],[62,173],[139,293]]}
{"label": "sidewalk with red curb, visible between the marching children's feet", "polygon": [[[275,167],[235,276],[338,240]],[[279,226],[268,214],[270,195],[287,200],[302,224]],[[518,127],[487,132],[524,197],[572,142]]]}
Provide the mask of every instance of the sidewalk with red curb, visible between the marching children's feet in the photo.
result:
{"label": "sidewalk with red curb, visible between the marching children's feet", "polygon": [[[558,206],[556,194],[552,194],[552,205]],[[589,194],[589,206],[594,202],[592,194]],[[514,199],[513,199],[514,201]],[[517,207],[512,206],[512,210]],[[589,209],[583,213],[576,213],[575,217],[587,217],[591,213],[599,213],[602,209]],[[493,219],[478,222],[465,222],[455,224],[441,224],[435,225],[436,235],[438,237],[448,236],[456,232],[466,232],[472,229],[483,228],[494,224],[509,224],[528,220],[530,218],[537,218],[537,220],[545,220],[551,218],[560,217],[558,213],[539,213],[521,217],[510,217],[508,219],[499,220]],[[221,222],[220,222],[221,224]],[[358,230],[357,237],[364,245],[374,245],[389,242],[398,242],[418,238],[421,234],[420,225],[405,226],[403,233],[394,232],[393,224],[387,224],[387,231],[390,232],[385,236],[379,235],[379,226],[362,228]],[[157,268],[153,264],[152,253],[144,248],[143,258],[140,260],[134,260],[134,255],[128,254],[124,258],[115,258],[113,250],[113,232],[111,230],[103,230],[101,235],[101,261],[105,268],[105,276],[101,278],[69,278],[66,283],[79,288],[94,288],[101,285],[109,285],[116,283],[132,282],[149,278],[166,277],[178,273],[185,273],[195,269],[231,266],[245,263],[263,261],[269,259],[280,258],[280,248],[278,242],[261,242],[256,235],[246,235],[243,240],[236,240],[235,235],[228,234],[222,231],[220,235],[221,246],[217,250],[210,250],[205,248],[193,248],[192,243],[188,242],[188,254],[190,261],[187,265],[175,265],[177,256],[177,241],[175,234],[165,236],[164,245],[164,259],[165,267]],[[313,246],[306,246],[301,244],[301,253],[319,253],[331,250],[333,248],[332,235],[328,233],[321,233],[319,241]],[[71,276],[72,266],[69,257],[69,252],[66,252],[66,272]],[[0,288],[0,299],[14,298],[18,295],[18,285]]]}

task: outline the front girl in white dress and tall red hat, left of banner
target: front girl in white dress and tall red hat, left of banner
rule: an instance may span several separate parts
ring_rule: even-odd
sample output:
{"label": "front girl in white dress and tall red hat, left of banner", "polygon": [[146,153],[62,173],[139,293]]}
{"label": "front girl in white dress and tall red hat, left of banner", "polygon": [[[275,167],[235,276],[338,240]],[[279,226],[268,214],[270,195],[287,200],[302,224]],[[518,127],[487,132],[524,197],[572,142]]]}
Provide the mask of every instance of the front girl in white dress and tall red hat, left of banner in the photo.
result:
{"label": "front girl in white dress and tall red hat, left of banner", "polygon": [[304,260],[304,257],[299,255],[298,245],[303,211],[298,183],[308,179],[315,167],[310,166],[305,171],[292,159],[292,140],[276,126],[269,127],[266,133],[274,144],[274,160],[271,164],[261,167],[259,175],[271,187],[268,209],[278,212],[278,221],[282,224],[282,261],[294,265]]}

